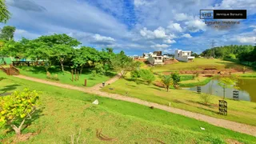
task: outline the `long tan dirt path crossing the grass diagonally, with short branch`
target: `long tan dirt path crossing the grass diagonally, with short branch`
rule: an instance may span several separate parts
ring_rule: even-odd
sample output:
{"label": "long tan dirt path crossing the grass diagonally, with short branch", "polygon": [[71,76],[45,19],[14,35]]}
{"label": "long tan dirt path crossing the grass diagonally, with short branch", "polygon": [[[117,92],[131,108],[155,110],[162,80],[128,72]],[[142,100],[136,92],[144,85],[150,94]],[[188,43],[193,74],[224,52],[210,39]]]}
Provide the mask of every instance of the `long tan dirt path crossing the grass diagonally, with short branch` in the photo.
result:
{"label": "long tan dirt path crossing the grass diagonally, with short branch", "polygon": [[[163,106],[163,105],[159,105],[154,102],[146,102],[146,101],[143,101],[138,98],[130,98],[130,97],[126,97],[126,96],[123,96],[120,94],[110,94],[110,93],[102,92],[102,91],[100,91],[102,84],[98,84],[98,85],[90,87],[90,88],[83,88],[83,87],[70,86],[67,84],[62,84],[62,83],[57,83],[57,82],[50,82],[50,81],[46,81],[46,80],[38,79],[38,78],[26,77],[24,75],[16,75],[14,77],[22,78],[22,79],[26,79],[26,80],[30,80],[30,81],[34,81],[34,82],[41,82],[41,83],[45,83],[48,85],[58,86],[58,87],[62,87],[62,88],[70,89],[70,90],[79,90],[79,91],[89,93],[89,94],[98,94],[98,95],[100,95],[102,97],[106,97],[106,98],[113,98],[113,99],[118,99],[118,100],[122,100],[122,101],[126,101],[126,102],[134,102],[134,103],[138,103],[138,104],[144,105],[144,106],[154,106],[154,108],[166,110],[166,111],[174,113],[174,114],[181,114],[181,115],[184,115],[189,118],[194,118],[194,119],[201,120],[203,122],[208,122],[214,126],[220,126],[220,127],[226,128],[226,129],[234,130],[234,131],[244,133],[244,134],[250,134],[250,135],[253,135],[256,137],[256,126],[250,126],[250,125],[246,125],[246,124],[242,124],[242,123],[238,123],[238,122],[232,122],[232,121],[228,121],[228,120],[220,119],[220,118],[213,118],[213,117],[210,117],[210,116],[207,116],[204,114],[198,114],[198,113],[194,113],[194,112],[190,112],[190,111],[186,111],[186,110],[177,109],[174,107]],[[119,75],[115,76],[114,78],[111,78],[109,81],[106,82],[106,85],[108,83],[115,82],[116,80],[118,80],[118,78],[119,78]]]}

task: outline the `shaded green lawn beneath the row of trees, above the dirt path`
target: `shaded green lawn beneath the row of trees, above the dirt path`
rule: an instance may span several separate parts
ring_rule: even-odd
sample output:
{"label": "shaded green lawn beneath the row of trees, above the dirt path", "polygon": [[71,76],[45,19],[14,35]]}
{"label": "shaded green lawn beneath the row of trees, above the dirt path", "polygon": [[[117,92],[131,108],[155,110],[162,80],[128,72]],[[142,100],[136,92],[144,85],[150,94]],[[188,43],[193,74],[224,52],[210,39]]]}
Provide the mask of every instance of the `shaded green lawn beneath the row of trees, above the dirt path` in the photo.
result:
{"label": "shaded green lawn beneath the row of trees, above the dirt path", "polygon": [[[43,66],[17,66],[18,70],[20,70],[20,74],[34,77],[34,78],[42,78],[46,80],[50,80],[46,78],[46,70]],[[69,68],[66,67],[68,70]],[[87,81],[87,87],[94,86],[98,83],[106,82],[111,77],[114,76],[114,73],[110,73],[110,76],[105,75],[99,75],[96,77],[93,77],[90,74],[90,71],[86,71],[86,68],[84,69],[85,72],[79,75],[79,80],[72,82],[72,75],[70,74],[70,71],[65,71],[65,73],[62,73],[61,69],[58,66],[52,66],[49,69],[50,74],[54,77],[55,74],[58,74],[59,81],[54,82],[61,82],[66,83],[74,86],[84,86],[85,79]]]}

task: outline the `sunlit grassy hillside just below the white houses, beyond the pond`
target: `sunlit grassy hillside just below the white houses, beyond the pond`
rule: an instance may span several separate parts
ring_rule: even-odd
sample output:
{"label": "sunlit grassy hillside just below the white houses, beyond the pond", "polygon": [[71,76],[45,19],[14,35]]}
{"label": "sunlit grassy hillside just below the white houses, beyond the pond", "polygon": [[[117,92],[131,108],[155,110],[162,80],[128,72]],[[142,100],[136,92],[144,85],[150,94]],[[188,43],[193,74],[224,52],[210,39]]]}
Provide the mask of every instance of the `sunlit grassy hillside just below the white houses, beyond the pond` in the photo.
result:
{"label": "sunlit grassy hillside just below the white houses, beyond the pond", "polygon": [[167,64],[163,66],[154,66],[154,72],[163,72],[163,71],[177,71],[177,70],[203,70],[205,68],[216,68],[216,69],[241,69],[242,65],[222,61],[219,59],[208,59],[208,58],[195,58],[194,62],[177,62],[173,64]]}

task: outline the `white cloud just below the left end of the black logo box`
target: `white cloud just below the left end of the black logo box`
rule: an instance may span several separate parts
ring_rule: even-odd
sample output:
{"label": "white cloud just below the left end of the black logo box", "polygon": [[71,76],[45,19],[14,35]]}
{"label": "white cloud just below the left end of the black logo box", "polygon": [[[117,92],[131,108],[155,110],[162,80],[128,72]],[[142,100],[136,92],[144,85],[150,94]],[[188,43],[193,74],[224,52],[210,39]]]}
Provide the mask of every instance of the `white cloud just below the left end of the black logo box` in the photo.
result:
{"label": "white cloud just below the left end of the black logo box", "polygon": [[200,30],[206,31],[206,23],[202,22],[199,19],[194,19],[188,22],[185,22],[187,30],[190,32],[198,32]]}

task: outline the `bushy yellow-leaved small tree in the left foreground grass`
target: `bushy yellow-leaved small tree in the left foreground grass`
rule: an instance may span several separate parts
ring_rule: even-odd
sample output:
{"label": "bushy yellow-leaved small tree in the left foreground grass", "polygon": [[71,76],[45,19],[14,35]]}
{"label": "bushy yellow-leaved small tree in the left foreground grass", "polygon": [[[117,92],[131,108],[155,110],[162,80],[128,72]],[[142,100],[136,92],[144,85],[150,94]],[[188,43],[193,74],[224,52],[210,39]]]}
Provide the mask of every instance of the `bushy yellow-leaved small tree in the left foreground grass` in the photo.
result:
{"label": "bushy yellow-leaved small tree in the left foreground grass", "polygon": [[[22,126],[38,106],[38,92],[24,89],[0,97],[0,127],[10,126],[16,134],[21,134]],[[17,126],[18,124],[18,126]]]}

